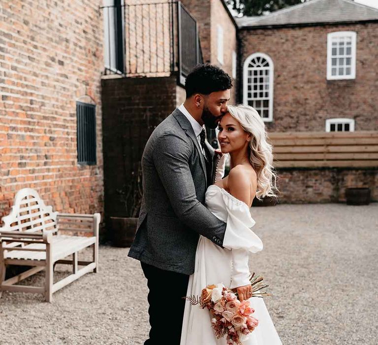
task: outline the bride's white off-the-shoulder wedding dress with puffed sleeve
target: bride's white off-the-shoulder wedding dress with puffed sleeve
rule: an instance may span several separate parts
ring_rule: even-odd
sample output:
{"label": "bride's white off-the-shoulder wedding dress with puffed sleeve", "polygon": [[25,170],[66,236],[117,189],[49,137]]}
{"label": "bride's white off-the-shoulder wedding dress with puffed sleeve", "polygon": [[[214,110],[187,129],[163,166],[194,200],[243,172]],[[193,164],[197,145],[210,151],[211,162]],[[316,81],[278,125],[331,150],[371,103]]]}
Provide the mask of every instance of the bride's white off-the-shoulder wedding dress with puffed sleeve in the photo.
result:
{"label": "bride's white off-the-shoulder wedding dress with puffed sleeve", "polygon": [[[206,191],[206,206],[227,223],[224,249],[200,236],[195,256],[194,274],[189,277],[187,296],[201,295],[209,284],[223,283],[229,288],[250,283],[249,252],[262,250],[262,242],[251,230],[255,224],[250,208],[224,189],[212,185]],[[252,297],[252,314],[259,324],[243,341],[243,345],[281,345],[264,300]],[[198,305],[185,306],[180,345],[225,345],[226,338],[217,339],[211,328],[211,316]]]}

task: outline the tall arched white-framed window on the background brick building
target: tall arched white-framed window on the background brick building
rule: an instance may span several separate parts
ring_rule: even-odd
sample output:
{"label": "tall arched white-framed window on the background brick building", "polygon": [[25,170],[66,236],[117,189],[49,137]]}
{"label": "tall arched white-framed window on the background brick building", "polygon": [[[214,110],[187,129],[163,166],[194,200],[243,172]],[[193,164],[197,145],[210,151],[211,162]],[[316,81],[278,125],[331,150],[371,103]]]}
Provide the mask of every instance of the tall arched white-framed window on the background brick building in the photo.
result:
{"label": "tall arched white-framed window on the background brick building", "polygon": [[266,54],[254,53],[244,62],[243,103],[266,122],[273,121],[273,72],[273,61]]}

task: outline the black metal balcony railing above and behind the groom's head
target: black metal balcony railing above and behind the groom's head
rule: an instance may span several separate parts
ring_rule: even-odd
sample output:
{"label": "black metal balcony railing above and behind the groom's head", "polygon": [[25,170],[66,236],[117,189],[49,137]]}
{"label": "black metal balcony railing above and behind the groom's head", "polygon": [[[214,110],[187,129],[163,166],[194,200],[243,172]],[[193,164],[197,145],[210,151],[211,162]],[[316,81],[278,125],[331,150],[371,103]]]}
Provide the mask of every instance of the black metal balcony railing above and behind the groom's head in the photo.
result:
{"label": "black metal balcony railing above and behind the groom's head", "polygon": [[114,4],[104,16],[105,73],[161,76],[177,72],[185,83],[202,63],[198,25],[180,1]]}

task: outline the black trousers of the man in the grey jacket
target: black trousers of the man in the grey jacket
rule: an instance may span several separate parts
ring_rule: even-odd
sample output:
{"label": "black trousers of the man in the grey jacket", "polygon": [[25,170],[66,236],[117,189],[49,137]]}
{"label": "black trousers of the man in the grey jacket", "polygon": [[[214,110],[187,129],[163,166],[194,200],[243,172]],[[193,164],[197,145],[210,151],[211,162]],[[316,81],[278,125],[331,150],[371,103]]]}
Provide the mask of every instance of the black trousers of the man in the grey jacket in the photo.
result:
{"label": "black trousers of the man in the grey jacket", "polygon": [[144,345],[180,345],[189,276],[141,262],[149,288],[150,335]]}

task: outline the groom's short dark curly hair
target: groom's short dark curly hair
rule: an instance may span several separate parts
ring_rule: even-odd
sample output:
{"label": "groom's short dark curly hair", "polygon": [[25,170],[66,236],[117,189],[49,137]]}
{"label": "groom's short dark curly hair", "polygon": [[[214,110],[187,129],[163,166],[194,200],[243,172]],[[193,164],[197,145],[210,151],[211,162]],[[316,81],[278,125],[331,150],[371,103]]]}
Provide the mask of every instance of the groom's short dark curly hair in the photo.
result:
{"label": "groom's short dark curly hair", "polygon": [[210,64],[194,67],[185,82],[187,98],[194,94],[209,95],[212,92],[231,89],[231,87],[231,77],[224,70]]}

